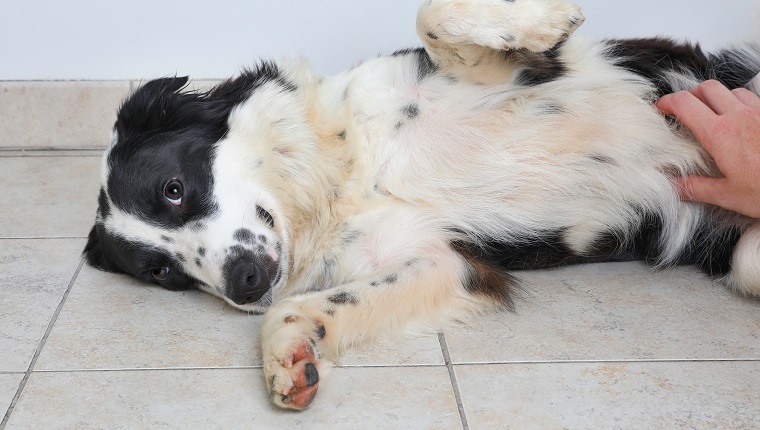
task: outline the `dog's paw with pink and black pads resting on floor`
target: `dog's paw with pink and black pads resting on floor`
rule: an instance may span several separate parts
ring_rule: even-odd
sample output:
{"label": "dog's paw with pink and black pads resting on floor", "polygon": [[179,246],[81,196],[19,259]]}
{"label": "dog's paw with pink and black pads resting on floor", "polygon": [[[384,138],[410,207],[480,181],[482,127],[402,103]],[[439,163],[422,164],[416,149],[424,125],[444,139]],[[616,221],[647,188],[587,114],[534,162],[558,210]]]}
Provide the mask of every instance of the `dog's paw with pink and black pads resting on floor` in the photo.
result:
{"label": "dog's paw with pink and black pads resting on floor", "polygon": [[262,333],[264,377],[275,405],[302,410],[319,389],[319,378],[326,369],[319,359],[319,330],[303,316],[287,315],[279,323],[266,324]]}

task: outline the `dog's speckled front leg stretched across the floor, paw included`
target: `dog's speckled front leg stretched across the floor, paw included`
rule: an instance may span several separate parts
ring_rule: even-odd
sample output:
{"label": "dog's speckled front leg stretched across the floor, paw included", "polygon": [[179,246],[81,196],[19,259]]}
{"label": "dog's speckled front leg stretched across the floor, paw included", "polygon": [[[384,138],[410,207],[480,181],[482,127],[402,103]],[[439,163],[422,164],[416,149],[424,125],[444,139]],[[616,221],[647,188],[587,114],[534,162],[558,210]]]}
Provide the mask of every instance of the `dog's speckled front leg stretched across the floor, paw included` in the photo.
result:
{"label": "dog's speckled front leg stretched across the floor, paw included", "polygon": [[275,304],[261,330],[271,399],[283,408],[303,409],[317,393],[320,374],[347,348],[409,328],[434,332],[482,310],[489,300],[463,284],[470,270],[449,249],[446,255],[409,260],[362,281]]}

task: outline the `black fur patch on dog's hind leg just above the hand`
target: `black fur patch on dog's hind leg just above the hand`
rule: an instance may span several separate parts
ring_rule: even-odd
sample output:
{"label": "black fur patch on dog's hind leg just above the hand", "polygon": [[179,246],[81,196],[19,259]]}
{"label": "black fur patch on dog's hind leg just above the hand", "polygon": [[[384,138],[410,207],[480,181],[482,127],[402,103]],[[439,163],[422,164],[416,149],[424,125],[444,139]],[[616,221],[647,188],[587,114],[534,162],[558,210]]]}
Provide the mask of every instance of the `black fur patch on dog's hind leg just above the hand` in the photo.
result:
{"label": "black fur patch on dog's hind leg just above the hand", "polygon": [[729,89],[743,87],[760,72],[760,61],[740,51],[705,54],[699,45],[665,38],[610,40],[603,55],[611,63],[650,80],[661,97],[674,88],[668,73],[692,74],[697,82],[717,79]]}

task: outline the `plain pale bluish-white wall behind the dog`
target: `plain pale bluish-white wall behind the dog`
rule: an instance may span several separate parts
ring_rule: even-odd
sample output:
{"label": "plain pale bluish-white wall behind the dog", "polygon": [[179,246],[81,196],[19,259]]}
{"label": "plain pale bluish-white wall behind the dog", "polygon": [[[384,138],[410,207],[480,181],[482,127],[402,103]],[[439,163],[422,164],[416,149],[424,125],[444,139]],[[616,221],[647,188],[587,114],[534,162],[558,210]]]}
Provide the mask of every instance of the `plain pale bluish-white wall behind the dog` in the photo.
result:
{"label": "plain pale bluish-white wall behind the dog", "polygon": [[[527,1],[527,0],[523,0]],[[757,0],[577,0],[593,37],[672,35],[715,48]],[[0,0],[0,80],[216,78],[260,57],[319,72],[418,45],[418,0]]]}

